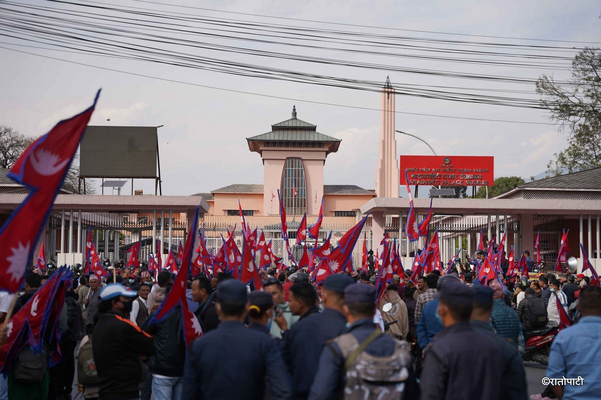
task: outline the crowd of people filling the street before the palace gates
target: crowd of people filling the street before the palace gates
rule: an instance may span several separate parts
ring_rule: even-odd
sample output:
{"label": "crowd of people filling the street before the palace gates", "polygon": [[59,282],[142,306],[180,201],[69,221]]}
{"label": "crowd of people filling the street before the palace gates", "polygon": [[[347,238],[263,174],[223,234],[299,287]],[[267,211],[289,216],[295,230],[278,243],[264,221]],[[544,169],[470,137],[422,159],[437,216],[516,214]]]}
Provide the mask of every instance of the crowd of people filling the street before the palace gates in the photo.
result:
{"label": "crowd of people filling the street before the palace gates", "polygon": [[[84,399],[528,399],[525,338],[563,324],[560,307],[572,326],[555,338],[547,374],[584,384],[530,397],[601,392],[601,290],[582,274],[481,283],[466,263],[415,284],[410,270],[394,275],[381,296],[377,271],[314,285],[305,270],[270,268],[258,291],[226,273],[199,274],[189,276],[186,305],[203,336],[187,346],[182,305],[151,318],[174,274],[120,263],[109,271],[76,276],[57,324],[63,358],[38,383],[0,378],[0,400],[71,399],[76,359]],[[48,278],[26,276],[16,311]],[[0,294],[0,322],[11,301]],[[5,337],[0,330],[0,344]]]}

